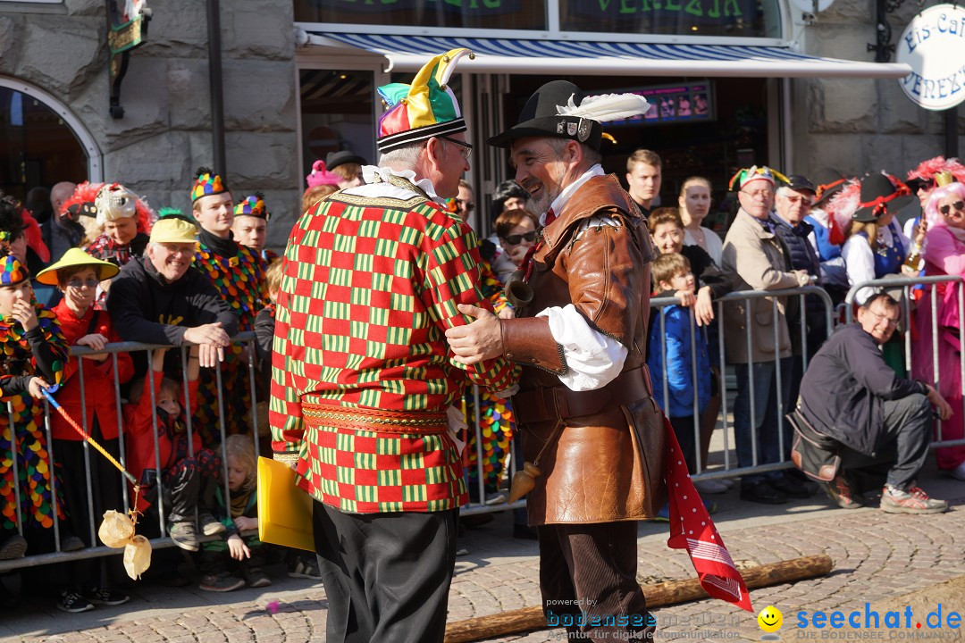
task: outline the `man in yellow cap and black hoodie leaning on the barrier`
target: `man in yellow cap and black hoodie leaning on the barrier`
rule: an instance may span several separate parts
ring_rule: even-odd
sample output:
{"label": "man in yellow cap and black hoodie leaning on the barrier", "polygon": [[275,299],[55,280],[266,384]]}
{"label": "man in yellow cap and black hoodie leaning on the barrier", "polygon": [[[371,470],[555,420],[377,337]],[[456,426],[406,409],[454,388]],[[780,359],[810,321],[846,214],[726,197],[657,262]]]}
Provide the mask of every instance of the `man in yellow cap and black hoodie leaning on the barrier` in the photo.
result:
{"label": "man in yellow cap and black hoodie leaning on the barrier", "polygon": [[177,215],[159,219],[147,256],[128,261],[111,283],[107,308],[124,341],[200,346],[202,366],[223,359],[238,317],[211,281],[191,266],[197,227]]}

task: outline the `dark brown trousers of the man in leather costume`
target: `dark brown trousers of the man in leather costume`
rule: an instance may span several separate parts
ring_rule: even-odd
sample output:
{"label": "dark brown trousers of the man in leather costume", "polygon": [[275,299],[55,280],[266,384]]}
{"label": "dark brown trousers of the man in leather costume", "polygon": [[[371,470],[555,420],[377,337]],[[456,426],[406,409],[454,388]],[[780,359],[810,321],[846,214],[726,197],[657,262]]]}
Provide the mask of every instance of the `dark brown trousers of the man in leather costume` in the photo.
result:
{"label": "dark brown trousers of the man in leather costume", "polygon": [[637,522],[544,524],[539,589],[547,625],[571,638],[652,640],[654,627],[637,582]]}

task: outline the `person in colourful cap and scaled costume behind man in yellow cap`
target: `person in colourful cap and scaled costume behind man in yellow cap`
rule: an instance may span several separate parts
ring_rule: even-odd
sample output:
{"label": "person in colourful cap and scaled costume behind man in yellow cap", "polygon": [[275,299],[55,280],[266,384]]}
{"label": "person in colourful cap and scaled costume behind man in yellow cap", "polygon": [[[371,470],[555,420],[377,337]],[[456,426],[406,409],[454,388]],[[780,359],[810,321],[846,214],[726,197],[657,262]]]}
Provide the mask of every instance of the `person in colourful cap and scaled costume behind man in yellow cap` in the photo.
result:
{"label": "person in colourful cap and scaled costume behind man in yellow cap", "polygon": [[[195,219],[201,226],[194,266],[208,276],[221,297],[238,315],[238,331],[250,331],[255,325],[255,315],[267,303],[264,290],[267,264],[255,251],[239,245],[232,238],[232,193],[221,176],[207,168],[199,168],[191,189],[191,201]],[[216,382],[216,373],[213,369],[207,370],[195,414],[206,445],[219,440]],[[251,408],[252,400],[247,354],[240,344],[232,344],[225,350],[225,361],[221,364],[221,390],[226,432],[229,435],[245,432],[247,424],[244,416]]]}

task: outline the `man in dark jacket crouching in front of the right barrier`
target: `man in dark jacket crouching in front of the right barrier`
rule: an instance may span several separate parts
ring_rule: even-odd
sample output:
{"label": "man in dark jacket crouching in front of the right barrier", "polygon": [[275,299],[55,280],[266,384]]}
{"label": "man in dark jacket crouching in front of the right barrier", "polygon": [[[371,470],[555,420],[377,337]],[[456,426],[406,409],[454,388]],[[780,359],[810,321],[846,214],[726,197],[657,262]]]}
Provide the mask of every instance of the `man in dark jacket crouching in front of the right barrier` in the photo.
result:
{"label": "man in dark jacket crouching in front of the right barrier", "polygon": [[858,323],[841,328],[814,356],[801,382],[798,411],[818,433],[840,442],[841,471],[828,495],[846,509],[862,505],[845,469],[891,456],[880,508],[890,514],[936,514],[949,508],[915,484],[931,435],[931,407],[946,419],[951,406],[934,387],[896,376],[879,346],[900,318],[897,302],[878,293],[858,308]]}

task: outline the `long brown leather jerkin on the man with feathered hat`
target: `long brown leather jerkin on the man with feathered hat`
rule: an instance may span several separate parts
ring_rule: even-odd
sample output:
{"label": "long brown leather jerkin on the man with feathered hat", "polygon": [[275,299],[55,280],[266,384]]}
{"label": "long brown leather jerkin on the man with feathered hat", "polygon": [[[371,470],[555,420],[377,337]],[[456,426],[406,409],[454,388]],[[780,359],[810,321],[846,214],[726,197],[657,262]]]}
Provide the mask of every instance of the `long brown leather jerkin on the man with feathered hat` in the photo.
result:
{"label": "long brown leather jerkin on the man with feathered hat", "polygon": [[[611,217],[620,226],[589,228],[577,238],[581,224],[598,215]],[[595,330],[627,347],[616,386],[628,394],[611,398],[587,415],[520,420],[524,458],[532,462],[546,447],[539,458],[543,473],[527,497],[529,522],[647,520],[664,502],[665,434],[663,417],[647,387],[642,351],[647,340],[648,261],[652,258],[646,221],[616,176],[599,176],[576,191],[543,233],[545,245],[535,257],[530,280],[534,301],[519,311],[520,316],[573,304]],[[545,390],[561,387],[557,373],[565,366],[551,348],[537,346],[516,358],[524,364],[517,396],[522,405],[514,398],[517,414],[526,415],[528,395],[545,396]],[[639,380],[634,383],[629,378]],[[565,397],[593,398],[605,389],[565,391]],[[562,409],[557,404],[560,394],[552,393],[550,406]],[[594,408],[580,402],[571,406],[583,411]],[[565,426],[553,436],[558,419]],[[555,443],[547,444],[550,440]]]}

